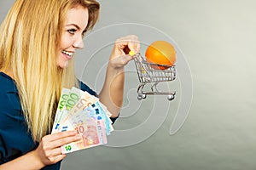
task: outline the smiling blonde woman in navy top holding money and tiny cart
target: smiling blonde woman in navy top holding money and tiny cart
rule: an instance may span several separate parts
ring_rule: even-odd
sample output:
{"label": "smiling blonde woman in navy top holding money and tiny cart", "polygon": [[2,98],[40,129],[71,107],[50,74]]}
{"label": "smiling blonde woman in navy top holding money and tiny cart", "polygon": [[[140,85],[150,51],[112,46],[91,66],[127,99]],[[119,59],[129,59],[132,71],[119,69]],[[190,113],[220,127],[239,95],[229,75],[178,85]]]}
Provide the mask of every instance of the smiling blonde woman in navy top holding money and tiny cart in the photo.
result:
{"label": "smiling blonde woman in navy top holding money and tiny cart", "polygon": [[[0,28],[0,169],[60,169],[61,145],[79,140],[76,131],[49,134],[61,88],[96,93],[74,76],[73,54],[92,29],[95,0],[17,0]],[[98,97],[114,119],[124,91],[125,53],[139,50],[136,36],[119,38]]]}

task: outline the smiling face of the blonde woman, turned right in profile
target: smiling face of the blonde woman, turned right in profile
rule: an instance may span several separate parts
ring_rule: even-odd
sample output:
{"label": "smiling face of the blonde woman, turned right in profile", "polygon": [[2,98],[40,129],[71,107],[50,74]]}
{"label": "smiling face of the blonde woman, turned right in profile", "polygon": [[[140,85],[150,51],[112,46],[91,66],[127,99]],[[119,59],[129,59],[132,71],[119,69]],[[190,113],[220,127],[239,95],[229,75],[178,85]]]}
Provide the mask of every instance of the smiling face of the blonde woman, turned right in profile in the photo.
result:
{"label": "smiling face of the blonde woman, turned right in profile", "polygon": [[57,65],[66,68],[76,49],[84,48],[83,34],[88,24],[88,9],[78,6],[67,12],[61,42],[57,48]]}

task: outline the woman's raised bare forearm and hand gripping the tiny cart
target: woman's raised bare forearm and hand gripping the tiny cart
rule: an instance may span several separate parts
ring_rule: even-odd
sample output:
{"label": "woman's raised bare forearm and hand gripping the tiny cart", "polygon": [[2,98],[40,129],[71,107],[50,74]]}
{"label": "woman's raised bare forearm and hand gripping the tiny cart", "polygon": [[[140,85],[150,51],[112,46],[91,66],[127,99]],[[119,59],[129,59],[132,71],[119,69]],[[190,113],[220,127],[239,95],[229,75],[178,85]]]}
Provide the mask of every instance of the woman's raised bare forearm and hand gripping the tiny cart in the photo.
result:
{"label": "woman's raised bare forearm and hand gripping the tiny cart", "polygon": [[108,62],[105,82],[99,98],[102,103],[108,107],[114,116],[119,115],[123,105],[123,94],[125,84],[125,65],[132,59],[132,56],[125,53],[125,48],[137,53],[140,43],[136,36],[127,36],[119,38],[113,47],[113,52]]}

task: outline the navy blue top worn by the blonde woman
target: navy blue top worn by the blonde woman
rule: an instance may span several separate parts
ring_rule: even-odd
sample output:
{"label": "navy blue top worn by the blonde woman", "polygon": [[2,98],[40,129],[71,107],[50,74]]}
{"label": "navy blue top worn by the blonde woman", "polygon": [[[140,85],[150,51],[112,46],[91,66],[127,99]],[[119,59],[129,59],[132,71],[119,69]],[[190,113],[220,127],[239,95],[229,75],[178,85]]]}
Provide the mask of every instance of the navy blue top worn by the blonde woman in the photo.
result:
{"label": "navy blue top worn by the blonde woman", "polygon": [[[80,82],[82,90],[97,96],[83,82]],[[22,114],[20,99],[15,81],[8,75],[0,72],[0,165],[25,155],[38,147],[38,143],[32,140],[32,134],[28,132],[25,117]],[[112,117],[111,117],[112,118]],[[112,118],[114,122],[116,118]],[[58,170],[61,161],[54,165],[46,166],[44,170]]]}

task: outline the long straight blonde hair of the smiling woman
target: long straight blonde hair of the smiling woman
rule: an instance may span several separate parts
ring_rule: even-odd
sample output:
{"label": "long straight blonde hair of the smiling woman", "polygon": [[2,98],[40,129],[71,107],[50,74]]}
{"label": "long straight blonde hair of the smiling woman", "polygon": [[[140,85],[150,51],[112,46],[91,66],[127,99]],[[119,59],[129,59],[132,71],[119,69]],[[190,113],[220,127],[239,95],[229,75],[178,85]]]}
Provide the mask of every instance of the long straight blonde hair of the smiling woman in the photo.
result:
{"label": "long straight blonde hair of the smiling woman", "polygon": [[77,86],[73,61],[56,65],[67,11],[88,8],[90,30],[98,19],[95,0],[17,0],[0,27],[0,70],[12,71],[28,130],[35,141],[49,133],[61,88]]}

